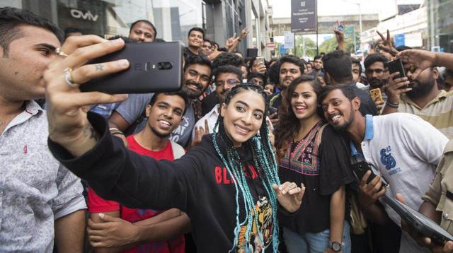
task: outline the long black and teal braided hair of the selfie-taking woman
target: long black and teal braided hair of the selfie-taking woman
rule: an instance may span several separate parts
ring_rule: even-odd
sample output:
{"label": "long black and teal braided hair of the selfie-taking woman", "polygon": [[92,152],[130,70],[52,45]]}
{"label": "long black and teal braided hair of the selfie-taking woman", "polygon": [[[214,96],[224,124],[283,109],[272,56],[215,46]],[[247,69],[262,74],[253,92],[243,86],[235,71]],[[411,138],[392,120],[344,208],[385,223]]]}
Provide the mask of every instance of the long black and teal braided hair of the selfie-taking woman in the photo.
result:
{"label": "long black and teal braided hair of the selfie-taking woman", "polygon": [[[232,88],[229,93],[226,95],[225,104],[228,105],[231,101],[231,98],[234,95],[240,93],[243,90],[253,90],[256,93],[263,96],[265,100],[265,93],[260,86],[257,86],[253,83],[241,83],[239,86]],[[272,206],[272,216],[273,216],[273,252],[278,251],[278,223],[277,223],[277,196],[273,191],[272,185],[280,185],[280,180],[277,174],[277,162],[273,153],[273,148],[269,139],[268,125],[266,124],[266,115],[268,114],[268,107],[265,107],[263,114],[263,122],[260,127],[259,134],[253,136],[251,139],[243,143],[246,148],[251,148],[253,154],[253,163],[256,167],[260,179],[263,180],[263,185],[266,192],[269,196],[270,205]],[[234,245],[229,252],[234,252],[236,247],[239,247],[239,233],[241,231],[241,226],[247,225],[245,238],[246,238],[246,252],[251,252],[252,246],[248,243],[250,239],[251,230],[253,228],[253,219],[255,220],[256,228],[258,228],[258,236],[260,237],[261,242],[264,241],[264,237],[261,233],[260,226],[258,225],[258,210],[256,209],[255,200],[248,188],[246,181],[246,176],[242,170],[243,162],[237,153],[236,148],[234,148],[231,139],[226,135],[223,117],[218,117],[214,129],[218,128],[218,132],[214,131],[212,143],[214,148],[217,151],[220,159],[224,163],[226,170],[229,172],[230,177],[234,180],[236,187],[236,228],[234,228]],[[226,146],[226,156],[222,154],[217,143],[217,135],[224,141]],[[242,203],[239,203],[239,196],[243,196]],[[240,205],[244,206],[246,211],[246,216],[244,220],[239,220],[240,214]],[[264,249],[263,249],[264,252]]]}

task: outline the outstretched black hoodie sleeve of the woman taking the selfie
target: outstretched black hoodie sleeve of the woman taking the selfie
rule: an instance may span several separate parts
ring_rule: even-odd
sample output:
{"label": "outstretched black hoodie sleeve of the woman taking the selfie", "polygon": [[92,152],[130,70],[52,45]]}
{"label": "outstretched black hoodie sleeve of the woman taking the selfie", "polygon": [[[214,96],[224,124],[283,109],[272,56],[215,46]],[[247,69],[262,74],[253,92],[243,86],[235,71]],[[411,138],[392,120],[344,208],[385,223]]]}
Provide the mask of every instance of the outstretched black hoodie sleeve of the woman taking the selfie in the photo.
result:
{"label": "outstretched black hoodie sleeve of the woman taking the selfie", "polygon": [[207,160],[199,148],[173,162],[156,161],[125,148],[119,138],[110,135],[108,124],[100,115],[88,112],[88,121],[101,134],[101,140],[90,151],[74,158],[49,139],[50,151],[57,160],[86,180],[104,199],[130,208],[188,209],[197,196],[200,161]]}

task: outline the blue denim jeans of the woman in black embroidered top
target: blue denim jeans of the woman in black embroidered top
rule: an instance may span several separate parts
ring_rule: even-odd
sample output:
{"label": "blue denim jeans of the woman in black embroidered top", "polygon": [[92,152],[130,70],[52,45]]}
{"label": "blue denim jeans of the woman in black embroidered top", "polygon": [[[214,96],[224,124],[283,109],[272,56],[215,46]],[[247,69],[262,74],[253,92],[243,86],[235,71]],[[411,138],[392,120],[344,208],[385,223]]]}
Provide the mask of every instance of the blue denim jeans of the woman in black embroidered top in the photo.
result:
{"label": "blue denim jeans of the woman in black embroidered top", "polygon": [[[347,220],[343,225],[343,253],[351,252],[350,225]],[[301,236],[298,233],[283,228],[283,237],[289,253],[323,253],[328,248],[330,230],[326,229],[319,233],[306,233]]]}

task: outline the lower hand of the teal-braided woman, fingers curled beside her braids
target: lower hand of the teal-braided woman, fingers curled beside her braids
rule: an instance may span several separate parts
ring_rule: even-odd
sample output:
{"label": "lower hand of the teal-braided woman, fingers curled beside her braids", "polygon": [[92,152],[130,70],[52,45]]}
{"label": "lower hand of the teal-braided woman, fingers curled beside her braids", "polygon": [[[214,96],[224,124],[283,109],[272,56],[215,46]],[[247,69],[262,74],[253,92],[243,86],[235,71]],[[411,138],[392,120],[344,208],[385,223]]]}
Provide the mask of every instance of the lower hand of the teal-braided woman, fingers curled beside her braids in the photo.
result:
{"label": "lower hand of the teal-braided woman, fingers curled beside her braids", "polygon": [[273,184],[274,192],[277,194],[278,203],[289,213],[294,213],[299,210],[300,204],[302,203],[302,197],[305,193],[304,184],[297,187],[294,182],[285,182],[277,185]]}

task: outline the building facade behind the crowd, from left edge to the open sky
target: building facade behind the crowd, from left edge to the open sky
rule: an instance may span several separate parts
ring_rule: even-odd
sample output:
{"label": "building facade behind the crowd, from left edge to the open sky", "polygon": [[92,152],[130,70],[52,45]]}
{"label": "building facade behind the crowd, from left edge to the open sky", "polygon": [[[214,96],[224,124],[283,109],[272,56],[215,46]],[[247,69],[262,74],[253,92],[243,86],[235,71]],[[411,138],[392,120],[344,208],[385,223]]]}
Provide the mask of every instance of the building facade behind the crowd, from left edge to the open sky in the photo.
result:
{"label": "building facade behind the crowd, from left edge to the open sky", "polygon": [[63,30],[79,28],[103,37],[129,34],[130,24],[146,19],[156,26],[157,38],[187,44],[188,31],[205,28],[207,39],[223,47],[243,28],[250,31],[238,49],[263,48],[269,40],[268,0],[2,0],[0,6],[32,11]]}

